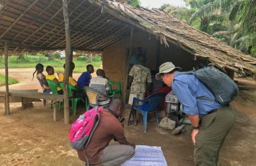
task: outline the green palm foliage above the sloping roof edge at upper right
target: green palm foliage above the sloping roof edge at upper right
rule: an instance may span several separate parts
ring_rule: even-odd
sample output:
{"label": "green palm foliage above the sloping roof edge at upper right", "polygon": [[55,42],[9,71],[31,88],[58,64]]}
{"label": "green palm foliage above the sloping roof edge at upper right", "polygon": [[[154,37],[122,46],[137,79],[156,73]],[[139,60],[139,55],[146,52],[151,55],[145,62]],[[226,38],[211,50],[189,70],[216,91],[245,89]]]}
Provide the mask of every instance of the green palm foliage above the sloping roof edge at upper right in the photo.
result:
{"label": "green palm foliage above the sloping roof edge at upper right", "polygon": [[164,4],[161,8],[256,57],[256,0],[187,0],[189,8]]}

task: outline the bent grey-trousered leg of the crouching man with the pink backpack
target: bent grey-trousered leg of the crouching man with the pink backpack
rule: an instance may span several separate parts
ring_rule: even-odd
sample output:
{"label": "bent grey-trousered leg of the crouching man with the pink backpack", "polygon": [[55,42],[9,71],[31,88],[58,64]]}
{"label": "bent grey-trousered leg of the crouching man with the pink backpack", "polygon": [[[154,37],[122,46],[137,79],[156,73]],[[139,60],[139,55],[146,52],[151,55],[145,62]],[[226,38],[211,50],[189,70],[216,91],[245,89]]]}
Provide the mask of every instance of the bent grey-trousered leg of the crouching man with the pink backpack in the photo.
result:
{"label": "bent grey-trousered leg of the crouching man with the pink backpack", "polygon": [[130,145],[108,145],[100,155],[100,162],[104,166],[121,165],[132,158],[134,154],[135,150]]}

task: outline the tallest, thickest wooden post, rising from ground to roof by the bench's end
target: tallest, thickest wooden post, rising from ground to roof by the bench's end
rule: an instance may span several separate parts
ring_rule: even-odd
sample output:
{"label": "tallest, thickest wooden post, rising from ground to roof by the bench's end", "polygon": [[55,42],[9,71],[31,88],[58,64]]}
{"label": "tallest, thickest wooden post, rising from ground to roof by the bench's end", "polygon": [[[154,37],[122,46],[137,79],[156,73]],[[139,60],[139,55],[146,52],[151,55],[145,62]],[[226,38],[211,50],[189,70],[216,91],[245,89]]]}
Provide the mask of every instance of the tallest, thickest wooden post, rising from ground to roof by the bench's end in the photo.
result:
{"label": "tallest, thickest wooden post, rising from ground to roof by the bench's end", "polygon": [[69,124],[69,96],[68,96],[68,77],[70,72],[70,57],[71,57],[71,36],[69,29],[69,15],[68,15],[68,3],[67,0],[63,0],[63,16],[65,24],[66,35],[66,50],[65,50],[65,70],[63,80],[63,92],[64,92],[64,123]]}

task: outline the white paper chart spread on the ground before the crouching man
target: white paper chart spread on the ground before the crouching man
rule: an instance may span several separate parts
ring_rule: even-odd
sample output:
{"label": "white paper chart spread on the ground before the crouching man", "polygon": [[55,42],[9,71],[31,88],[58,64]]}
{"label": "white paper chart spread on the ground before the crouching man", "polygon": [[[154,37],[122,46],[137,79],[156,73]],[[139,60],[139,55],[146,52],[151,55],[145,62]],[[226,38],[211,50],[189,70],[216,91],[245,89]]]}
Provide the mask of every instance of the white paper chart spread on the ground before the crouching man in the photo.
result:
{"label": "white paper chart spread on the ground before the crouching man", "polygon": [[136,145],[135,155],[122,166],[167,166],[166,159],[159,146]]}

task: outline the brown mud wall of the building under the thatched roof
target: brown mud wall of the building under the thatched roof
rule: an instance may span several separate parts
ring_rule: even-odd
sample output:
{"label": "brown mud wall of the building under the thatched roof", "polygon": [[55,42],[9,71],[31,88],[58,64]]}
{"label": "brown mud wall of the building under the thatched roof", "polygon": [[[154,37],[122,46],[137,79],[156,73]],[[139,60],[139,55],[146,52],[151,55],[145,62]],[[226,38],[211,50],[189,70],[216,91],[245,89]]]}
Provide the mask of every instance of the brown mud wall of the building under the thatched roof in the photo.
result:
{"label": "brown mud wall of the building under the thatched roof", "polygon": [[[133,48],[141,47],[145,51],[147,57],[146,66],[150,70],[159,68],[164,62],[171,61],[176,66],[180,66],[184,71],[192,70],[197,67],[199,63],[205,64],[205,61],[199,58],[195,59],[193,55],[188,54],[186,51],[172,46],[169,48],[164,44],[160,45],[160,55],[157,57],[157,38],[144,31],[138,29],[134,32],[134,45]],[[118,41],[117,43],[108,46],[102,52],[102,65],[107,77],[113,81],[121,82],[121,89],[124,92],[125,76],[126,76],[126,58],[130,48],[130,36]],[[127,94],[129,97],[129,91]]]}

